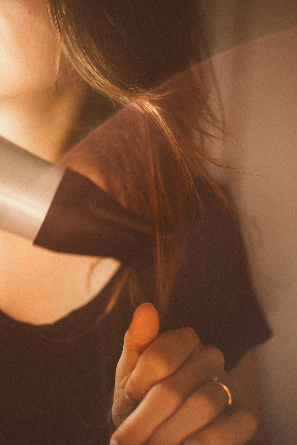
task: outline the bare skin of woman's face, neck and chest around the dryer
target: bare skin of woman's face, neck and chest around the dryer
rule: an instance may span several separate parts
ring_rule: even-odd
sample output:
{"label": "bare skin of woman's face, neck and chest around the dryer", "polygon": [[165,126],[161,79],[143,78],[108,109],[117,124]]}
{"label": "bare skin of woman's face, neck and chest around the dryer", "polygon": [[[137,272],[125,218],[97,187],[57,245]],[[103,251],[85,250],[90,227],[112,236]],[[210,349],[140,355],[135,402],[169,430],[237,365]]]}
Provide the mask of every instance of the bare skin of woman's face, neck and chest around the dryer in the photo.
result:
{"label": "bare skin of woman's face, neck and chest around the dryer", "polygon": [[[0,134],[56,162],[87,85],[63,55],[57,73],[59,42],[43,0],[0,2],[0,42]],[[119,266],[45,251],[4,231],[0,250],[0,308],[32,324],[53,323],[87,303]]]}

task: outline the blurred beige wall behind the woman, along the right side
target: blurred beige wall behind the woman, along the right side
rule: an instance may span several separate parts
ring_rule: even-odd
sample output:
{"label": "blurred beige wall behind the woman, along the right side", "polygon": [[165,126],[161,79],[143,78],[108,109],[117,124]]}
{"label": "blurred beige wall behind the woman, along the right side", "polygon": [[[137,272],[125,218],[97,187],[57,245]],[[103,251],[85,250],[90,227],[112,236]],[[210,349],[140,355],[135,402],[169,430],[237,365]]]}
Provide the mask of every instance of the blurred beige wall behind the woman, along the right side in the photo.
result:
{"label": "blurred beige wall behind the woman, along the right side", "polygon": [[[211,55],[297,27],[297,0],[202,0],[202,10]],[[258,350],[273,445],[297,444],[297,32],[288,35],[214,63],[236,137],[210,151],[267,179],[209,169],[242,215],[252,279],[274,332]]]}

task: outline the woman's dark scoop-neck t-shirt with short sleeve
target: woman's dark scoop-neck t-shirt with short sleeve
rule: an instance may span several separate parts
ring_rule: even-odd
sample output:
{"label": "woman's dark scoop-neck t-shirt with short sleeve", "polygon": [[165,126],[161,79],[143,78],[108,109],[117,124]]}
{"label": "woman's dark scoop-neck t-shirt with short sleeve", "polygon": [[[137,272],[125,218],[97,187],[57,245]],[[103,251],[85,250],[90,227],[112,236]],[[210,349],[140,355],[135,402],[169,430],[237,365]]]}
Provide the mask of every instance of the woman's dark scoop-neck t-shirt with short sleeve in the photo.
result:
{"label": "woman's dark scoop-neck t-shirt with short sleeve", "polygon": [[[243,246],[236,248],[231,215],[209,190],[204,202],[206,218],[200,234],[189,229],[187,260],[162,330],[194,328],[203,344],[220,348],[228,371],[270,331]],[[134,311],[129,292],[122,292],[101,323],[77,334],[94,325],[122,271],[92,301],[53,325],[36,327],[0,312],[1,443],[108,444],[115,368]]]}

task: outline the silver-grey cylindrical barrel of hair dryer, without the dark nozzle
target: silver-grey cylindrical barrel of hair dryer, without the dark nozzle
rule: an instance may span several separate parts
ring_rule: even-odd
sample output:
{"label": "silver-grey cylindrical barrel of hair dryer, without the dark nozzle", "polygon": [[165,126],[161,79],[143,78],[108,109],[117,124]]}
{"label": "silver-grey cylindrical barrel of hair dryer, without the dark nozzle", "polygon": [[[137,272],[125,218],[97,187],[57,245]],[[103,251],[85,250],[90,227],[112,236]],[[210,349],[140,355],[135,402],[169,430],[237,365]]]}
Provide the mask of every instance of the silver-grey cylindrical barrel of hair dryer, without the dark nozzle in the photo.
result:
{"label": "silver-grey cylindrical barrel of hair dryer, without the dark nozzle", "polygon": [[0,137],[0,227],[35,239],[63,173]]}

